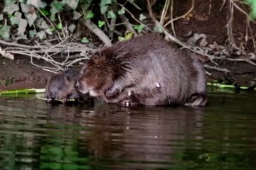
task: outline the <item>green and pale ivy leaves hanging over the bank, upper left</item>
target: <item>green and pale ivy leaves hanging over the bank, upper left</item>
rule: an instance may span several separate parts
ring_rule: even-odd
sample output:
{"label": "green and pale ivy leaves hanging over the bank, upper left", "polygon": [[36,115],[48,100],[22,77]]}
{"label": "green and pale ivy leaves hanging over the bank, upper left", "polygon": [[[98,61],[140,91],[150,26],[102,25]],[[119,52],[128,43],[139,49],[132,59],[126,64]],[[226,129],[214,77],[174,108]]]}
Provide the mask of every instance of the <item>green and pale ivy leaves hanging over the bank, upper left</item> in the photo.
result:
{"label": "green and pale ivy leaves hanging over the bank, upper left", "polygon": [[[139,6],[133,0],[124,5]],[[29,38],[53,38],[78,31],[78,19],[89,19],[96,23],[107,35],[110,33],[110,20],[126,13],[127,8],[117,0],[4,0],[0,12],[0,38],[6,41]],[[72,16],[72,17],[69,17]],[[142,13],[139,20],[146,18]],[[134,25],[141,32],[142,24]],[[83,38],[82,42],[88,42]]]}

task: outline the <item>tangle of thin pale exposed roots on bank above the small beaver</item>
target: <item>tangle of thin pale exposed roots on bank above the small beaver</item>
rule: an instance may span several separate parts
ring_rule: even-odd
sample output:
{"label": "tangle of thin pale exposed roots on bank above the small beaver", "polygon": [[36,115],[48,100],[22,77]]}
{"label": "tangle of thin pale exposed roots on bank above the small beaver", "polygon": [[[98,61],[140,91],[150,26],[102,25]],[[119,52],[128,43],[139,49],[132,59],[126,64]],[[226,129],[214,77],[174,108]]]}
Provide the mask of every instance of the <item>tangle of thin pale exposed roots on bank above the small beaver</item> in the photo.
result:
{"label": "tangle of thin pale exposed roots on bank above the small beaver", "polygon": [[[1,50],[2,52],[5,52],[8,55],[23,55],[31,57],[31,64],[48,72],[58,72],[58,70],[62,70],[65,67],[70,67],[75,63],[86,60],[90,57],[90,53],[95,50],[87,45],[74,43],[72,40],[68,44],[65,44],[65,41],[67,41],[67,39],[58,43],[58,45],[52,45],[52,47],[48,47],[48,45],[39,44],[36,42],[37,45],[33,45],[32,49],[31,46],[18,45],[16,43],[4,42],[2,40],[0,41],[0,44],[8,45],[8,47]],[[58,62],[54,60],[54,57],[63,54],[67,54],[64,61]],[[40,66],[33,62],[35,58],[37,60],[45,60],[46,62],[52,64],[53,67]]]}

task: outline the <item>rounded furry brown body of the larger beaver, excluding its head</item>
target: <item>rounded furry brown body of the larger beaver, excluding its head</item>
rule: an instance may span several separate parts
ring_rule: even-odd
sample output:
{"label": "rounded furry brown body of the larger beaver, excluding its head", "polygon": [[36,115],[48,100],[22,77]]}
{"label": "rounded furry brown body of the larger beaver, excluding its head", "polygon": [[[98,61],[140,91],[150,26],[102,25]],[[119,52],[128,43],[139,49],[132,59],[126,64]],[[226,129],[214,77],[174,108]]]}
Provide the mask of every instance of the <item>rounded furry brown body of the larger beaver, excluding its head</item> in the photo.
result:
{"label": "rounded furry brown body of the larger beaver, excluding its head", "polygon": [[193,94],[206,94],[204,69],[198,59],[156,35],[120,42],[108,50],[129,64],[118,82],[135,84],[128,90],[137,94],[139,103],[186,103]]}

